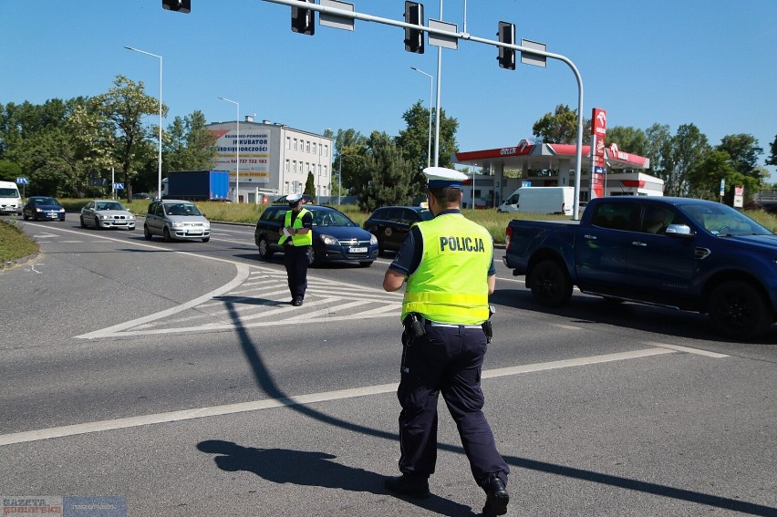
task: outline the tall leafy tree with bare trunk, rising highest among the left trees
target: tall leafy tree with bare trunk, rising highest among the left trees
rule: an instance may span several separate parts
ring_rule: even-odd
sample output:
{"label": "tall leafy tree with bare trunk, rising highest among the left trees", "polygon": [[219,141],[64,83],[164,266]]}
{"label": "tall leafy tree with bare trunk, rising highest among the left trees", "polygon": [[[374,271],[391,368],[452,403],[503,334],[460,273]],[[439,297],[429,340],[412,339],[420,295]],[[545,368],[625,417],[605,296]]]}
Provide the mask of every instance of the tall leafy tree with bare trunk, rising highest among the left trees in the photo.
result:
{"label": "tall leafy tree with bare trunk, rising highest among the left trees", "polygon": [[[109,120],[117,135],[113,152],[119,171],[124,175],[127,199],[132,197],[132,180],[138,174],[140,167],[149,161],[150,145],[143,145],[144,140],[154,139],[154,129],[158,127],[143,126],[143,117],[159,113],[160,101],[145,93],[145,85],[141,81],[135,84],[129,78],[117,76],[114,87],[108,93],[98,96],[102,115]],[[162,116],[167,113],[167,107],[162,105]]]}

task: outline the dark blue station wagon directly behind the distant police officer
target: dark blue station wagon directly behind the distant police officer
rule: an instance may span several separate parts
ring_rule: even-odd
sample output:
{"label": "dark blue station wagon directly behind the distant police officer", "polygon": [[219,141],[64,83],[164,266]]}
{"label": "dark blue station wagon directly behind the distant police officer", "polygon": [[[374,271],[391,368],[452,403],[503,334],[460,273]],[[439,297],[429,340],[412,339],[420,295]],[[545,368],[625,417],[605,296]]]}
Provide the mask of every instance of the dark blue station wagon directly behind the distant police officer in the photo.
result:
{"label": "dark blue station wagon directly behind the distant police officer", "polygon": [[[313,214],[313,246],[308,256],[310,264],[357,262],[368,266],[378,258],[378,239],[359,228],[345,213],[319,205],[306,205],[305,209]],[[254,241],[263,259],[284,251],[278,241],[288,211],[288,206],[269,206],[256,222]]]}

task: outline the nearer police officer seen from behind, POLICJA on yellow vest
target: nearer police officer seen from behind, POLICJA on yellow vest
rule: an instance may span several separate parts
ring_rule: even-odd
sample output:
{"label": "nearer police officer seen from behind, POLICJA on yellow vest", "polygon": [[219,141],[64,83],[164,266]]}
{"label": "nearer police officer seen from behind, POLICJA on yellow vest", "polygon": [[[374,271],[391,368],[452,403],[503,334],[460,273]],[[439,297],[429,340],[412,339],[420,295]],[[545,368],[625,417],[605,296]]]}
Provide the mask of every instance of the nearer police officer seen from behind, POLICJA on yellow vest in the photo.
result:
{"label": "nearer police officer seen from behind, POLICJA on yellow vest", "polygon": [[491,331],[488,296],[496,283],[492,236],[461,215],[466,175],[442,167],[427,168],[424,174],[434,218],[411,228],[383,278],[389,292],[407,282],[397,390],[402,475],[385,484],[400,495],[429,497],[441,393],[459,429],[472,476],[486,493],[483,515],[503,515],[510,501],[505,489],[510,468],[496,450],[482,413],[481,389]]}

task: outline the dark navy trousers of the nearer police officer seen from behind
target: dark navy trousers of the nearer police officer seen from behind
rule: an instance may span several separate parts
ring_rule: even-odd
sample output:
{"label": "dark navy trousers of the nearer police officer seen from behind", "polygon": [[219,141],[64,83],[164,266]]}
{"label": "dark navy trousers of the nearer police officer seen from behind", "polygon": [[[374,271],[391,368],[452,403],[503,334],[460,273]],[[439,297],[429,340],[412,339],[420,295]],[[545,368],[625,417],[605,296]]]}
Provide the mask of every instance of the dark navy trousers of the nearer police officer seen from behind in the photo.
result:
{"label": "dark navy trousers of the nearer police officer seen from behind", "polygon": [[409,343],[402,336],[399,413],[399,470],[429,476],[437,462],[437,401],[442,398],[456,422],[475,481],[493,476],[507,484],[510,468],[496,450],[482,413],[481,370],[486,337],[480,326],[426,325]]}

